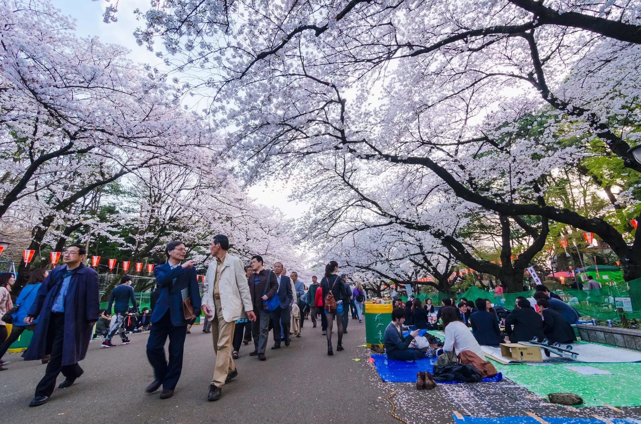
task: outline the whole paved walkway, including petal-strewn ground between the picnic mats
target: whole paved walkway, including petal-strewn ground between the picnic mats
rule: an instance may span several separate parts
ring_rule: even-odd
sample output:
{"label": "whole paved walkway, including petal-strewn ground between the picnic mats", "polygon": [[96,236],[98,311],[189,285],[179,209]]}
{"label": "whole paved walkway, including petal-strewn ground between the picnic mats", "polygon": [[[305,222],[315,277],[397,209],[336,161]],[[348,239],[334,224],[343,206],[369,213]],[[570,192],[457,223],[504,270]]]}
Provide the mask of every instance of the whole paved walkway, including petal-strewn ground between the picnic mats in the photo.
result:
{"label": "whole paved walkway, including petal-strewn ground between the picnic mats", "polygon": [[[334,334],[336,336],[336,334]],[[27,405],[44,373],[44,365],[24,362],[19,354],[5,358],[10,370],[0,373],[0,422],[28,424],[93,423],[344,423],[398,424],[387,402],[391,393],[367,358],[365,324],[349,320],[344,352],[326,354],[320,324],[303,328],[303,337],[290,347],[267,350],[267,361],[250,357],[252,345],[243,345],[236,361],[239,375],[225,386],[222,398],[207,402],[214,355],[210,334],[193,327],[185,343],[185,364],[176,394],[160,400],[144,393],[153,380],[147,363],[147,333],[130,335],[132,343],[101,349],[91,343],[81,363],[85,374],[69,389],[56,389],[51,400],[36,408]],[[336,339],[334,337],[334,345]],[[269,343],[271,346],[271,343]],[[354,361],[353,359],[360,359]],[[633,376],[631,376],[633,377]],[[62,376],[58,380],[62,381]],[[533,396],[524,387],[499,383],[440,384],[417,391],[412,383],[386,383],[395,392],[394,414],[406,423],[454,423],[453,415],[473,417],[527,416],[641,418],[640,408],[614,411],[567,408]],[[608,390],[608,387],[604,387]],[[511,422],[519,423],[515,418]],[[565,421],[571,422],[571,421]]]}

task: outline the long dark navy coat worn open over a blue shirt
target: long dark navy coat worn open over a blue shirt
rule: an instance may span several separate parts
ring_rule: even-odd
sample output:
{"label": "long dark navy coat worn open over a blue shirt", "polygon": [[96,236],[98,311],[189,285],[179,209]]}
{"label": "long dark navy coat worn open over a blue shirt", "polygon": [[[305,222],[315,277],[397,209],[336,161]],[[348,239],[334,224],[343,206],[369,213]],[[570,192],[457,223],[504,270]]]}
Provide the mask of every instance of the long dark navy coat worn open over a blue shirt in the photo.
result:
{"label": "long dark navy coat worn open over a blue shirt", "polygon": [[[38,295],[29,309],[28,316],[38,317],[38,323],[33,330],[33,337],[26,352],[22,354],[25,361],[42,359],[47,348],[47,330],[51,307],[53,306],[60,284],[54,284],[55,276],[64,272],[67,265],[56,266],[42,282]],[[69,282],[69,289],[65,296],[65,335],[62,352],[62,364],[72,365],[85,359],[89,341],[91,340],[92,326],[99,317],[100,295],[98,293],[98,274],[92,268],[80,265]]]}

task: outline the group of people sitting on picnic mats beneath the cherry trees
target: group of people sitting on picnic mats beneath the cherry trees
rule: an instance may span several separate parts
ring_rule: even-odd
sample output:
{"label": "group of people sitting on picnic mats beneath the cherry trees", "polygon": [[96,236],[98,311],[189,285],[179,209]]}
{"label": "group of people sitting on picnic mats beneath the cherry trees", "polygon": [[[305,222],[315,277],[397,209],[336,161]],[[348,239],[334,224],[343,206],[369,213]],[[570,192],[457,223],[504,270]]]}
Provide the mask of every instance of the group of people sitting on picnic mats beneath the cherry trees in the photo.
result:
{"label": "group of people sitting on picnic mats beneath the cherry trees", "polygon": [[[539,341],[548,339],[551,343],[576,341],[571,325],[579,320],[579,314],[545,286],[538,286],[531,300],[517,297],[515,309],[508,311],[505,318],[504,332],[499,327],[499,314],[486,298],[478,298],[475,302],[462,299],[456,307],[450,298],[445,298],[442,302],[437,320],[442,320],[445,332],[444,352],[470,350],[483,358],[481,345],[498,346],[506,338],[511,343],[531,341],[535,337]],[[428,312],[421,307],[419,299],[413,300],[411,304],[408,302],[404,308],[397,304],[384,336],[389,359],[408,361],[424,356],[421,349],[410,348],[410,345],[419,329],[431,329],[427,316]],[[403,336],[403,325],[413,325],[415,330]]]}

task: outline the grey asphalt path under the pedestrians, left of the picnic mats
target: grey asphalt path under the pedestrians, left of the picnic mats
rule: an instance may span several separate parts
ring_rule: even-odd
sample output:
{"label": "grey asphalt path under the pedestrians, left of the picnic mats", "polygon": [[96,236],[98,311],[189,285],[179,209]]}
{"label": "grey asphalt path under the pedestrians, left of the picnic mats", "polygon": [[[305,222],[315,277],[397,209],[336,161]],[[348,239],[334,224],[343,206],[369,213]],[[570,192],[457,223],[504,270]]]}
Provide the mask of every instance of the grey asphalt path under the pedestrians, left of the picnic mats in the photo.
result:
{"label": "grey asphalt path under the pedestrians, left of the picnic mats", "polygon": [[[335,326],[336,327],[336,326]],[[365,323],[351,320],[343,352],[327,355],[325,336],[306,321],[301,338],[289,347],[270,350],[267,361],[250,357],[242,345],[238,377],[224,386],[222,397],[207,402],[215,355],[211,334],[199,325],[185,341],[183,372],[172,398],[144,391],[153,380],[147,361],[147,332],[129,334],[131,343],[100,348],[90,343],[81,361],[84,375],[68,389],[56,389],[47,404],[28,407],[45,365],[8,354],[8,371],[0,373],[0,423],[398,423],[390,415],[387,391],[367,359]],[[336,345],[336,334],[333,334]],[[354,361],[353,359],[361,359]],[[58,383],[63,377],[58,377]]]}

